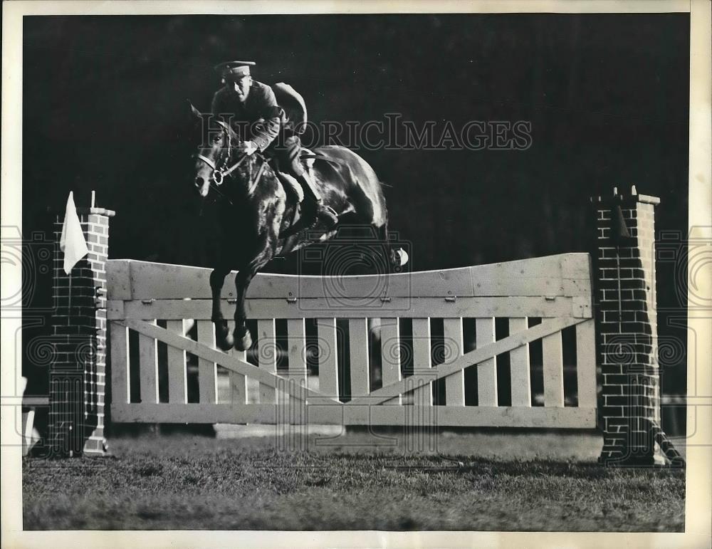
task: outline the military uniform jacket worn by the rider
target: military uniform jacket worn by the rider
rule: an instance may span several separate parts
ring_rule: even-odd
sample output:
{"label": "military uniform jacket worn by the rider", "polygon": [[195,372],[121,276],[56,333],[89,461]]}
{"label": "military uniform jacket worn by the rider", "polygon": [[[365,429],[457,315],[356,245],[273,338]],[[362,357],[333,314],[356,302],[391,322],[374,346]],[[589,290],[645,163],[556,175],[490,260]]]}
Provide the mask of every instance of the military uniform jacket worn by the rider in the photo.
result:
{"label": "military uniform jacket worn by the rider", "polygon": [[244,141],[252,141],[260,151],[269,147],[279,134],[282,110],[272,88],[253,80],[245,103],[229,88],[220,88],[213,96],[214,116],[229,122]]}

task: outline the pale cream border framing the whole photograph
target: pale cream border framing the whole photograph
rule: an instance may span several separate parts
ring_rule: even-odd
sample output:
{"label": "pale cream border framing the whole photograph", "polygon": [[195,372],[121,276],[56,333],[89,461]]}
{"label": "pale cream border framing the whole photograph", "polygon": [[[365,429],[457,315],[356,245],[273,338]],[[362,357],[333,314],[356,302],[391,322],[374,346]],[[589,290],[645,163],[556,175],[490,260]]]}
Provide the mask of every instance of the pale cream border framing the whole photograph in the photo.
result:
{"label": "pale cream border framing the whole photograph", "polygon": [[[712,238],[712,4],[707,0],[606,1],[6,1],[3,5],[2,51],[2,201],[1,224],[21,226],[22,135],[22,16],[41,14],[392,14],[392,13],[664,13],[691,14],[689,227],[698,236]],[[692,263],[693,258],[690,258]],[[710,281],[698,295],[710,296]],[[21,287],[19,266],[2,265],[3,295]],[[700,293],[701,292],[701,293]],[[135,543],[152,546],[214,547],[528,547],[602,545],[641,547],[705,547],[710,543],[712,510],[712,372],[711,340],[693,339],[694,333],[712,333],[709,312],[689,313],[686,531],[684,533],[531,533],[531,532],[273,532],[265,530],[164,531],[21,531],[21,441],[16,432],[16,407],[21,371],[21,313],[6,311],[1,322],[1,497],[2,540],[5,547],[53,548],[77,543],[120,547]],[[698,357],[698,364],[691,360]],[[14,404],[11,404],[14,403]],[[693,408],[697,409],[693,409]],[[696,414],[696,421],[692,421]]]}

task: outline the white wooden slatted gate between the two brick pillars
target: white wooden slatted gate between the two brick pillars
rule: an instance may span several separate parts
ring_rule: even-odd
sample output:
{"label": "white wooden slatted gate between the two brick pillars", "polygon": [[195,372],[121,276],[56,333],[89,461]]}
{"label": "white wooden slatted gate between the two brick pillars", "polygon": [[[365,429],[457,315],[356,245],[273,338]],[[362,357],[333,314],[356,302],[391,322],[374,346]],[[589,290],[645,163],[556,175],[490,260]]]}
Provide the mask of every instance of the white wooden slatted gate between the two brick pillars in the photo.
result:
{"label": "white wooden slatted gate between the two brick pillars", "polygon": [[[205,268],[108,261],[113,422],[595,427],[595,334],[586,253],[390,276],[260,274],[246,305],[248,318],[257,321],[258,366],[247,362],[244,352],[216,350],[209,274]],[[234,313],[234,291],[229,277],[222,295],[225,318]],[[496,338],[496,318],[508,319],[506,337]],[[278,371],[279,319],[286,320],[288,368]],[[316,319],[318,382],[308,380],[305,319]],[[369,319],[379,326],[380,387],[371,379]],[[405,347],[402,319],[412,319]],[[439,365],[431,361],[432,319],[443,319],[446,352]],[[187,335],[192,323],[195,339]],[[337,330],[344,324],[348,329],[338,339],[349,351],[347,370],[339,364],[337,345]],[[476,341],[466,350],[471,334],[464,326],[472,325]],[[562,332],[568,329],[575,330],[575,360],[564,365]],[[540,345],[543,402],[533,402],[532,345]],[[404,376],[404,349],[412,352],[412,375]],[[197,402],[188,402],[187,352],[197,357]],[[498,402],[497,357],[502,355],[509,357],[511,380],[506,405]],[[473,365],[476,387],[466,384],[465,370]],[[572,394],[565,393],[565,367],[575,375]],[[348,402],[342,402],[339,390],[339,372],[345,371]],[[132,372],[138,383],[132,384]],[[219,390],[219,372],[229,378],[227,396]],[[438,405],[432,391],[436,380],[445,380],[444,403]],[[162,384],[167,391],[159,390]],[[132,394],[132,385],[138,394]],[[160,402],[162,392],[167,402]],[[476,405],[468,403],[473,400]]]}

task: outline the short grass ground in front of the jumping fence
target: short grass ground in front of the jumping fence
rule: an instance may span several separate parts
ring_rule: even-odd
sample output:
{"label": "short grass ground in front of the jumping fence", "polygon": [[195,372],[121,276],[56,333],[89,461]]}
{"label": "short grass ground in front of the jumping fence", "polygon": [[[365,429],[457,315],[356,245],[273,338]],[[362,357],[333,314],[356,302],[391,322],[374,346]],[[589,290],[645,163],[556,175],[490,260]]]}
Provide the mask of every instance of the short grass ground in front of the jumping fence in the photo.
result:
{"label": "short grass ground in front of the jumping fence", "polygon": [[24,528],[684,530],[684,471],[474,457],[469,435],[441,437],[440,454],[362,435],[309,452],[271,437],[110,443],[108,459],[24,461]]}

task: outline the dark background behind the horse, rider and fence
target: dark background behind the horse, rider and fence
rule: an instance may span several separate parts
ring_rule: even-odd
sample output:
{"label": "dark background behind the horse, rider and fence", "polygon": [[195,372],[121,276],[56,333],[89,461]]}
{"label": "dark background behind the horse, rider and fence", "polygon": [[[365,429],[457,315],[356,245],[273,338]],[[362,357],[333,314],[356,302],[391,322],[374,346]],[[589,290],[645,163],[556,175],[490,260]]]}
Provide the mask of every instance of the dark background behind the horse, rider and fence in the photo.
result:
{"label": "dark background behind the horse, rider and fence", "polygon": [[[686,234],[687,14],[25,17],[23,231],[95,189],[110,257],[204,264],[186,99],[208,110],[234,58],[315,121],[531,122],[525,151],[362,152],[414,269],[590,251],[589,197],[614,186]],[[659,266],[661,338],[686,337],[679,283]]]}

